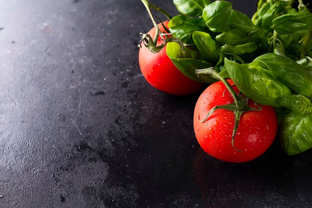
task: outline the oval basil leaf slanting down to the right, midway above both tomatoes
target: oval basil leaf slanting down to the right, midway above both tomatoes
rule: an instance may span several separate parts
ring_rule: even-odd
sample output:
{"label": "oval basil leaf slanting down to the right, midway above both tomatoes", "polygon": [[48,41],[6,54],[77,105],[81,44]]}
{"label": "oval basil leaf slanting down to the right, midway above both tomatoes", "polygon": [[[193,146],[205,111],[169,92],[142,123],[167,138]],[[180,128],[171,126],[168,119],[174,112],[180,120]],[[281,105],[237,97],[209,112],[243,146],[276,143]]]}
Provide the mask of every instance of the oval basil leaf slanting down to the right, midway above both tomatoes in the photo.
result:
{"label": "oval basil leaf slanting down to the right, midway above both tomatoes", "polygon": [[193,32],[193,40],[207,62],[218,62],[220,59],[221,45],[214,41],[208,33],[195,31]]}

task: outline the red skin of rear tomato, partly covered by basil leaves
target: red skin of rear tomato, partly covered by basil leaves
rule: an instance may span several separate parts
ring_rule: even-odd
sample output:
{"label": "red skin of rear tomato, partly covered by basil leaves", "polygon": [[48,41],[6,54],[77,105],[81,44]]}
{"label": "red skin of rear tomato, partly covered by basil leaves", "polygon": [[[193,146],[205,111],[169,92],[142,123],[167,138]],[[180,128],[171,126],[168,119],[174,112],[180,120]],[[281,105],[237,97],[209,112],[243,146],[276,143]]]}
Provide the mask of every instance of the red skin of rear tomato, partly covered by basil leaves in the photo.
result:
{"label": "red skin of rear tomato, partly covered by basil leaves", "polygon": [[[163,22],[167,26],[169,21]],[[164,31],[159,24],[160,31]],[[155,28],[147,34],[155,36]],[[157,45],[164,43],[158,37]],[[166,54],[166,46],[159,53],[150,52],[144,45],[139,51],[139,64],[145,79],[156,89],[173,95],[188,95],[204,86],[184,76]]]}

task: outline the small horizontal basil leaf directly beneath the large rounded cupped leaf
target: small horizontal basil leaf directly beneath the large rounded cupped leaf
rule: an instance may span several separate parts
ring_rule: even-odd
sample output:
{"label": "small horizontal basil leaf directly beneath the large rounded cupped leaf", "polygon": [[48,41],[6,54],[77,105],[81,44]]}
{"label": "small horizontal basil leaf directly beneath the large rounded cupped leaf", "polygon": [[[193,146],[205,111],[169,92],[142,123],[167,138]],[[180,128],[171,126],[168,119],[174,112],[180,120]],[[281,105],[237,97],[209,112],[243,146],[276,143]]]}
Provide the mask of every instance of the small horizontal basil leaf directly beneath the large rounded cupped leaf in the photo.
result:
{"label": "small horizontal basil leaf directly beneath the large rounded cupped leaf", "polygon": [[240,45],[248,41],[248,35],[240,29],[233,29],[217,35],[216,41],[222,45]]}

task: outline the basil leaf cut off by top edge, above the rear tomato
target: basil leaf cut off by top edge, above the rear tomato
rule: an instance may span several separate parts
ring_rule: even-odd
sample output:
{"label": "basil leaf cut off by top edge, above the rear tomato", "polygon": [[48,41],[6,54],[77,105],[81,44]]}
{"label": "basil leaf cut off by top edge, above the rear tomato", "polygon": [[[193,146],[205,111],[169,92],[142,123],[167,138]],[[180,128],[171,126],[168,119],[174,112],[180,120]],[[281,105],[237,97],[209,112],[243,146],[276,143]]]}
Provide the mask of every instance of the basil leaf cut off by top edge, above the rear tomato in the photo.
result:
{"label": "basil leaf cut off by top edge, above the rear tomato", "polygon": [[173,0],[177,10],[188,16],[200,16],[210,0]]}

